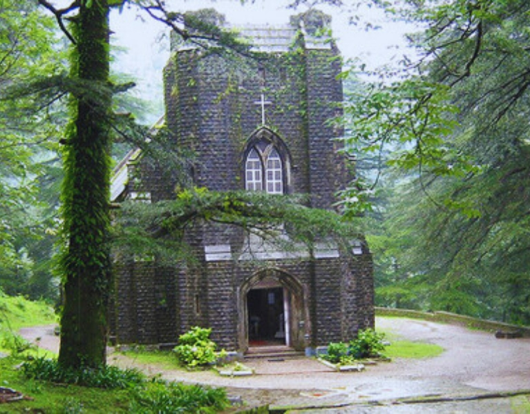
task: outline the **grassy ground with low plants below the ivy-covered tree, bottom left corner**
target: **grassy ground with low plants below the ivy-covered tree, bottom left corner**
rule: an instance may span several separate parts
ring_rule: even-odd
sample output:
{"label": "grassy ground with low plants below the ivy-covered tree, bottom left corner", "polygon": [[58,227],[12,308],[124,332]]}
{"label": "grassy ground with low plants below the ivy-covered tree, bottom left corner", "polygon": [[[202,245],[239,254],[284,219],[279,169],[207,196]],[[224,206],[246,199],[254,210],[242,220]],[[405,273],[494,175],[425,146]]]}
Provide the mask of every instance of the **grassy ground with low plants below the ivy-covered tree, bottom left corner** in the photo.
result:
{"label": "grassy ground with low plants below the ivy-covered tree, bottom left corner", "polygon": [[[21,357],[0,359],[1,386],[23,393],[27,400],[0,404],[3,413],[215,413],[229,406],[222,388],[165,383],[140,373],[107,367],[89,375],[95,386],[55,384],[24,375]],[[49,362],[50,366],[54,365]],[[53,367],[34,366],[46,377]],[[52,373],[52,374],[55,374]],[[88,375],[88,374],[87,374]],[[122,375],[123,378],[118,377]],[[104,377],[102,377],[104,376]],[[60,379],[59,379],[60,380]],[[66,380],[71,380],[67,378]],[[108,380],[108,381],[107,381]],[[124,381],[121,381],[124,380]],[[101,388],[111,386],[112,389]]]}

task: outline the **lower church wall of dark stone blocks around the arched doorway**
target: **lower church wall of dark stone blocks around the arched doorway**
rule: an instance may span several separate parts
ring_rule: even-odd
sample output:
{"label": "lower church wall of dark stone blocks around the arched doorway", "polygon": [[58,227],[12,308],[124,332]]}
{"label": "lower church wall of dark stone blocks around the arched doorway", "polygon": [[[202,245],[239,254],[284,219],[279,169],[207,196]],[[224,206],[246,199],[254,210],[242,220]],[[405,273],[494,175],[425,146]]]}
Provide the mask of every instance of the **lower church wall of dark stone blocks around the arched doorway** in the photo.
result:
{"label": "lower church wall of dark stone blocks around the arched doorway", "polygon": [[[310,335],[308,346],[347,341],[360,328],[373,326],[372,308],[362,302],[373,294],[370,257],[363,255],[355,261],[353,270],[342,259],[267,264],[292,275],[307,291],[307,308],[299,311],[308,316],[301,332]],[[221,347],[240,349],[238,287],[263,268],[263,264],[231,261],[177,271],[151,262],[135,262],[127,270],[123,266],[117,285],[117,341],[171,344],[199,325],[211,327],[212,339]]]}

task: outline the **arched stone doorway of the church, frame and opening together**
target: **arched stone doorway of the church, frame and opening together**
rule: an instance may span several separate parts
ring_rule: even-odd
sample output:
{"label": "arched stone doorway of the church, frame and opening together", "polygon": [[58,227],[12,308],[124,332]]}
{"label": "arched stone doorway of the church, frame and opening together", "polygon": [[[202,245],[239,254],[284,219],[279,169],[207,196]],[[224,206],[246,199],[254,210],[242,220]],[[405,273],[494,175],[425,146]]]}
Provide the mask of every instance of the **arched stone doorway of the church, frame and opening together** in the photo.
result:
{"label": "arched stone doorway of the church, frame and opening together", "polygon": [[303,350],[307,324],[307,292],[296,277],[278,269],[260,270],[240,286],[239,344],[290,346]]}

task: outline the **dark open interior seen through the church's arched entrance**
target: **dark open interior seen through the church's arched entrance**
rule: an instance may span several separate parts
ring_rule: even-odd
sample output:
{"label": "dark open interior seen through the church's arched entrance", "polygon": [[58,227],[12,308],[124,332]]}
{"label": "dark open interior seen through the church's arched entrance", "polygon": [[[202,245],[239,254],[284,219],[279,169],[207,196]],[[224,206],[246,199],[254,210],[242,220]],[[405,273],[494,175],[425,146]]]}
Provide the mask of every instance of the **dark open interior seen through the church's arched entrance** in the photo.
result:
{"label": "dark open interior seen through the church's arched entrance", "polygon": [[285,345],[283,288],[258,288],[247,295],[249,345]]}

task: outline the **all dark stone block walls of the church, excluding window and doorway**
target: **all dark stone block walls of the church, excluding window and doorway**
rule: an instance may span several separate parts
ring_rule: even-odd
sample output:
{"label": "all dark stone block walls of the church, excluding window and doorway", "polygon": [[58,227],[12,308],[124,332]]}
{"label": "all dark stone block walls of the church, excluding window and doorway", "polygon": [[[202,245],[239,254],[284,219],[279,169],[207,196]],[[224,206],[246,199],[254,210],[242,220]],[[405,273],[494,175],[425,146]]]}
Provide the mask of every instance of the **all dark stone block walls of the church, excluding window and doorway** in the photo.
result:
{"label": "all dark stone block walls of the church, excluding window and doorway", "polygon": [[[337,75],[341,63],[334,48],[307,49],[303,41],[292,52],[254,60],[225,61],[199,49],[173,50],[164,69],[166,122],[177,148],[190,152],[189,179],[210,190],[245,188],[249,140],[262,131],[265,94],[269,136],[285,144],[290,166],[287,193],[310,193],[311,204],[331,208],[334,193],[348,180],[334,137],[340,128],[328,124],[339,115],[342,100]],[[265,74],[265,80],[263,80]],[[265,133],[263,132],[263,133]],[[140,158],[129,166],[126,192],[146,192],[152,201],[171,199],[177,174],[156,160]],[[191,262],[172,268],[153,262],[121,262],[111,323],[117,341],[143,344],[176,342],[192,326],[212,328],[212,339],[227,349],[244,348],[243,286],[256,274],[273,269],[296,287],[296,346],[319,346],[349,340],[360,328],[373,326],[373,281],[370,253],[321,259],[277,259],[206,262],[205,247],[230,246],[237,253],[243,231],[198,224],[185,236]],[[284,277],[281,276],[281,277]],[[281,279],[280,277],[280,279]],[[304,336],[308,335],[308,342]]]}

